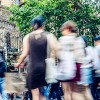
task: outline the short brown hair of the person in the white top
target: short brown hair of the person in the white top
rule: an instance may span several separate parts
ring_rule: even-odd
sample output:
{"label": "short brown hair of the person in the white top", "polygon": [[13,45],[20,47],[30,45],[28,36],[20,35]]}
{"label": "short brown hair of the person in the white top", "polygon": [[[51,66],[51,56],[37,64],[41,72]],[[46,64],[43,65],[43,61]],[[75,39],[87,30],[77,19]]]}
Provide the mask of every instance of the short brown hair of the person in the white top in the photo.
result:
{"label": "short brown hair of the person in the white top", "polygon": [[78,31],[77,24],[73,21],[66,21],[60,28],[61,31],[64,29],[69,29],[73,33],[77,33]]}

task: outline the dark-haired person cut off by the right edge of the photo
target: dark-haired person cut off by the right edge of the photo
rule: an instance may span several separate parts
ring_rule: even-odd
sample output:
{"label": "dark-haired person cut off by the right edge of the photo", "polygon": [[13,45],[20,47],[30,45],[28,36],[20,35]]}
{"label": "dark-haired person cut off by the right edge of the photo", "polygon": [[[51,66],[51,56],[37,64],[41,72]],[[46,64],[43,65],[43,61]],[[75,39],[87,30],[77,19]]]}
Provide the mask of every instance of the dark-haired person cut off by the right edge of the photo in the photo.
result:
{"label": "dark-haired person cut off by the right edge of the photo", "polygon": [[96,63],[97,67],[94,69],[94,83],[90,86],[91,92],[93,95],[94,100],[99,100],[100,93],[97,91],[98,86],[100,83],[100,36],[97,36],[94,38],[95,43],[95,52],[98,54],[98,59],[93,56],[94,59],[96,59],[99,63]]}

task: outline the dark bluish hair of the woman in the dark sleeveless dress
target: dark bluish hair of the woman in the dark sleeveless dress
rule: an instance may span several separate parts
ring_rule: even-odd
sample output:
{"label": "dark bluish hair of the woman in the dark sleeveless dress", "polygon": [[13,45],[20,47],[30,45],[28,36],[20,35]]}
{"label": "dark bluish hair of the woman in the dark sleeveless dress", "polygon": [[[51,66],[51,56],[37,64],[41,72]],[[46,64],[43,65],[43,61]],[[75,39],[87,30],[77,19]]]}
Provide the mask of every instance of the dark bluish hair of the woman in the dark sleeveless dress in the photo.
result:
{"label": "dark bluish hair of the woman in the dark sleeveless dress", "polygon": [[37,16],[32,19],[31,26],[37,30],[38,28],[42,27],[44,25],[45,18],[43,16]]}

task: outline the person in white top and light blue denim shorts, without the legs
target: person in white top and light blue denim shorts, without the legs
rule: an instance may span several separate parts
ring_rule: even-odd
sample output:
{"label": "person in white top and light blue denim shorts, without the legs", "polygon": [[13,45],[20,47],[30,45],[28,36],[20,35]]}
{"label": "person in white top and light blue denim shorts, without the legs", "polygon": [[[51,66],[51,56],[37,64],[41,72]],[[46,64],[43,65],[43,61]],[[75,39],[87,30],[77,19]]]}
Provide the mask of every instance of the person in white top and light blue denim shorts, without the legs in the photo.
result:
{"label": "person in white top and light blue denim shorts, without the legs", "polygon": [[92,46],[88,46],[87,37],[82,36],[82,38],[85,41],[86,47],[84,49],[84,63],[81,66],[81,83],[89,85],[93,83],[93,69],[98,69],[100,62],[98,53],[95,48]]}

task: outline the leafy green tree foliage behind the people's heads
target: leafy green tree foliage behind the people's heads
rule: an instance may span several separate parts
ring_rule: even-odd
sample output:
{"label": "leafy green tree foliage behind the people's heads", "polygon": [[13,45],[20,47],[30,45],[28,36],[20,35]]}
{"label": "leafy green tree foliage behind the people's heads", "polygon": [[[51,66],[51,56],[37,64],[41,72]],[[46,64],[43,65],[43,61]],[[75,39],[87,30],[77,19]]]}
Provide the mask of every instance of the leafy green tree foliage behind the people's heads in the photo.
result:
{"label": "leafy green tree foliage behind the people's heads", "polygon": [[19,27],[22,34],[31,32],[30,21],[37,15],[46,18],[46,30],[51,31],[57,37],[61,36],[60,27],[67,20],[73,20],[78,24],[79,33],[86,34],[90,38],[99,34],[98,25],[99,10],[92,5],[82,3],[82,0],[26,0],[21,7],[13,5],[10,8],[11,21]]}

